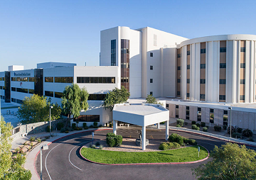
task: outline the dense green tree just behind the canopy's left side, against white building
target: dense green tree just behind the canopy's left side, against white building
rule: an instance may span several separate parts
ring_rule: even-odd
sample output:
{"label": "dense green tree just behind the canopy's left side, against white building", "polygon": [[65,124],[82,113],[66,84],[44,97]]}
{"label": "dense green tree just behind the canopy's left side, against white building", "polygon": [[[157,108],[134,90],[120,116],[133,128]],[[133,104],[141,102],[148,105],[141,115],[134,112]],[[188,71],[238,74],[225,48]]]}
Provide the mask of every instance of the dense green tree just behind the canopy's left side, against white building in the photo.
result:
{"label": "dense green tree just behind the canopy's left side, against white building", "polygon": [[124,86],[121,86],[121,89],[116,87],[107,93],[106,98],[104,99],[103,107],[105,109],[110,108],[110,111],[112,111],[114,104],[126,102],[129,96],[130,93]]}

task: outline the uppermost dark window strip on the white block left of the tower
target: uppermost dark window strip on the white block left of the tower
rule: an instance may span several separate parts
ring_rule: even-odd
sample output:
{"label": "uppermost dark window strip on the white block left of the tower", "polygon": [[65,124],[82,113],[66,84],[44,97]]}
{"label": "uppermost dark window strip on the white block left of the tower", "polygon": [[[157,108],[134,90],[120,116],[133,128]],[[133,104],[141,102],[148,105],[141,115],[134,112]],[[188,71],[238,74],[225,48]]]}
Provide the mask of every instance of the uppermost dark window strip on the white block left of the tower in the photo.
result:
{"label": "uppermost dark window strip on the white block left of the tower", "polygon": [[78,83],[115,83],[115,77],[77,77]]}

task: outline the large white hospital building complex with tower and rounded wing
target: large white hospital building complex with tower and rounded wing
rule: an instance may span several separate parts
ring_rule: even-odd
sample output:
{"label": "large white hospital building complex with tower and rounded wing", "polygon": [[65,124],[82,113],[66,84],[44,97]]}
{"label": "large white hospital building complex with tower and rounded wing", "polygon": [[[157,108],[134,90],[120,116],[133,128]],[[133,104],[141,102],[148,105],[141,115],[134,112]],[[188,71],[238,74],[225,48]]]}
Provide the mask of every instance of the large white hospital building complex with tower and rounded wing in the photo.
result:
{"label": "large white hospital building complex with tower and rounded wing", "polygon": [[[28,94],[60,103],[65,86],[77,83],[90,94],[89,111],[104,124],[112,113],[102,99],[114,87],[126,87],[130,99],[148,94],[166,101],[170,117],[256,130],[256,35],[213,35],[189,40],[154,28],[115,27],[100,33],[100,66],[41,63],[37,69],[11,66],[0,72],[0,94],[21,103]],[[4,89],[3,89],[4,87]],[[91,122],[91,121],[87,121]]]}

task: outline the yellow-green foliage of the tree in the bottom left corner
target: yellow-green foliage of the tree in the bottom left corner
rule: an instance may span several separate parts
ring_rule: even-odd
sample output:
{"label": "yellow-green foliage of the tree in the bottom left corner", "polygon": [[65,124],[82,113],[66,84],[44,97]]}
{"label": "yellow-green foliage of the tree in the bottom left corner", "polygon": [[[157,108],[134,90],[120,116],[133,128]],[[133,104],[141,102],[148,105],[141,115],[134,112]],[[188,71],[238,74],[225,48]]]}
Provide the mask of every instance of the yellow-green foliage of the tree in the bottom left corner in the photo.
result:
{"label": "yellow-green foliage of the tree in the bottom left corner", "polygon": [[14,159],[11,157],[11,123],[6,123],[1,116],[0,126],[0,179],[31,179],[31,171],[23,168],[26,157],[21,154],[17,154]]}

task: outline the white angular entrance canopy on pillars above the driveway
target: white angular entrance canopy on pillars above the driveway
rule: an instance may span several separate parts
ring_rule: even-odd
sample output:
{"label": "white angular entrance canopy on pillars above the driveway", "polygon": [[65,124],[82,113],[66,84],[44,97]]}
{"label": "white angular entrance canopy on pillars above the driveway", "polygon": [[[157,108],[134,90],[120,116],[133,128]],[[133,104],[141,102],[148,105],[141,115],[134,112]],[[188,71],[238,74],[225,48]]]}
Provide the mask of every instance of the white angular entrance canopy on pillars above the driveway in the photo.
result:
{"label": "white angular entrance canopy on pillars above the driveway", "polygon": [[113,108],[113,133],[117,120],[142,126],[142,150],[146,149],[146,126],[166,121],[166,140],[169,136],[169,110],[159,104],[116,104]]}

